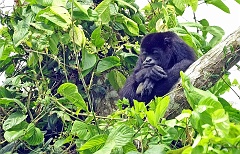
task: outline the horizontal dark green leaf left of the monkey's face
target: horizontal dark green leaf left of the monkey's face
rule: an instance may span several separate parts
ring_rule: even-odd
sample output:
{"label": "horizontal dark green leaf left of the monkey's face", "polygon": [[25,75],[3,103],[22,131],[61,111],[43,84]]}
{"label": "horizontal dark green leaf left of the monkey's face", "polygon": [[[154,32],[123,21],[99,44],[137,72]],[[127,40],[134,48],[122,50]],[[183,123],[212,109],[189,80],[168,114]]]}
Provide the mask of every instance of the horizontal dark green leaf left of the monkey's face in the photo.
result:
{"label": "horizontal dark green leaf left of the monkey's face", "polygon": [[102,59],[97,66],[97,72],[101,73],[115,66],[120,66],[120,59],[116,56],[109,56]]}

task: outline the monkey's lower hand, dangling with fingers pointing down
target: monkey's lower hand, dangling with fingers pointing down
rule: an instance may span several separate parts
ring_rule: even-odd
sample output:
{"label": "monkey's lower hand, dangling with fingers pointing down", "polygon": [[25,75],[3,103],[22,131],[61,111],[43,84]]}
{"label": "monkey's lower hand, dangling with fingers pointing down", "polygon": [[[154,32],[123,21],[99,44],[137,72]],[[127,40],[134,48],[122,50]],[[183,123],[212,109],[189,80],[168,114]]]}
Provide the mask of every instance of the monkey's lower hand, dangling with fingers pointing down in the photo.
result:
{"label": "monkey's lower hand, dangling with fingers pointing down", "polygon": [[152,93],[154,87],[154,82],[147,78],[144,82],[141,82],[136,90],[136,94],[140,97],[149,96]]}

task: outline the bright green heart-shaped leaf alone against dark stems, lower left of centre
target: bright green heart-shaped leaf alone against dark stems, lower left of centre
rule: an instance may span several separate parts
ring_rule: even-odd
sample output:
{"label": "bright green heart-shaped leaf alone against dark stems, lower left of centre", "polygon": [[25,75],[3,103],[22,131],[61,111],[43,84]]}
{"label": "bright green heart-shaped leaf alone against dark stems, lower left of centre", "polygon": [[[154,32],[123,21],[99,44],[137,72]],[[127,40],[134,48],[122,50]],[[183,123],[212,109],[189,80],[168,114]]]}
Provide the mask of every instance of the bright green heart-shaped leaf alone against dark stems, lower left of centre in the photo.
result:
{"label": "bright green heart-shaped leaf alone against dark stems, lower left of centre", "polygon": [[78,88],[75,84],[64,83],[62,84],[57,92],[67,98],[71,103],[80,109],[87,111],[87,106],[82,96],[78,93]]}

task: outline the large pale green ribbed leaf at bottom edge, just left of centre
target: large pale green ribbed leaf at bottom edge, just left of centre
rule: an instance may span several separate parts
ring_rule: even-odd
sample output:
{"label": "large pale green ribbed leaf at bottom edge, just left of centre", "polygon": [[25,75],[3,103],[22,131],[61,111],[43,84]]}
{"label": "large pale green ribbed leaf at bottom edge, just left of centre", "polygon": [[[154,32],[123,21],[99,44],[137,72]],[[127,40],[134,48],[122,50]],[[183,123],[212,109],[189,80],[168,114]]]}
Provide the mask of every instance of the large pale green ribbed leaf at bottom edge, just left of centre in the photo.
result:
{"label": "large pale green ribbed leaf at bottom edge, just left of centre", "polygon": [[133,130],[130,127],[122,124],[111,130],[104,147],[95,152],[95,154],[110,154],[112,149],[121,148],[130,142],[133,135]]}

